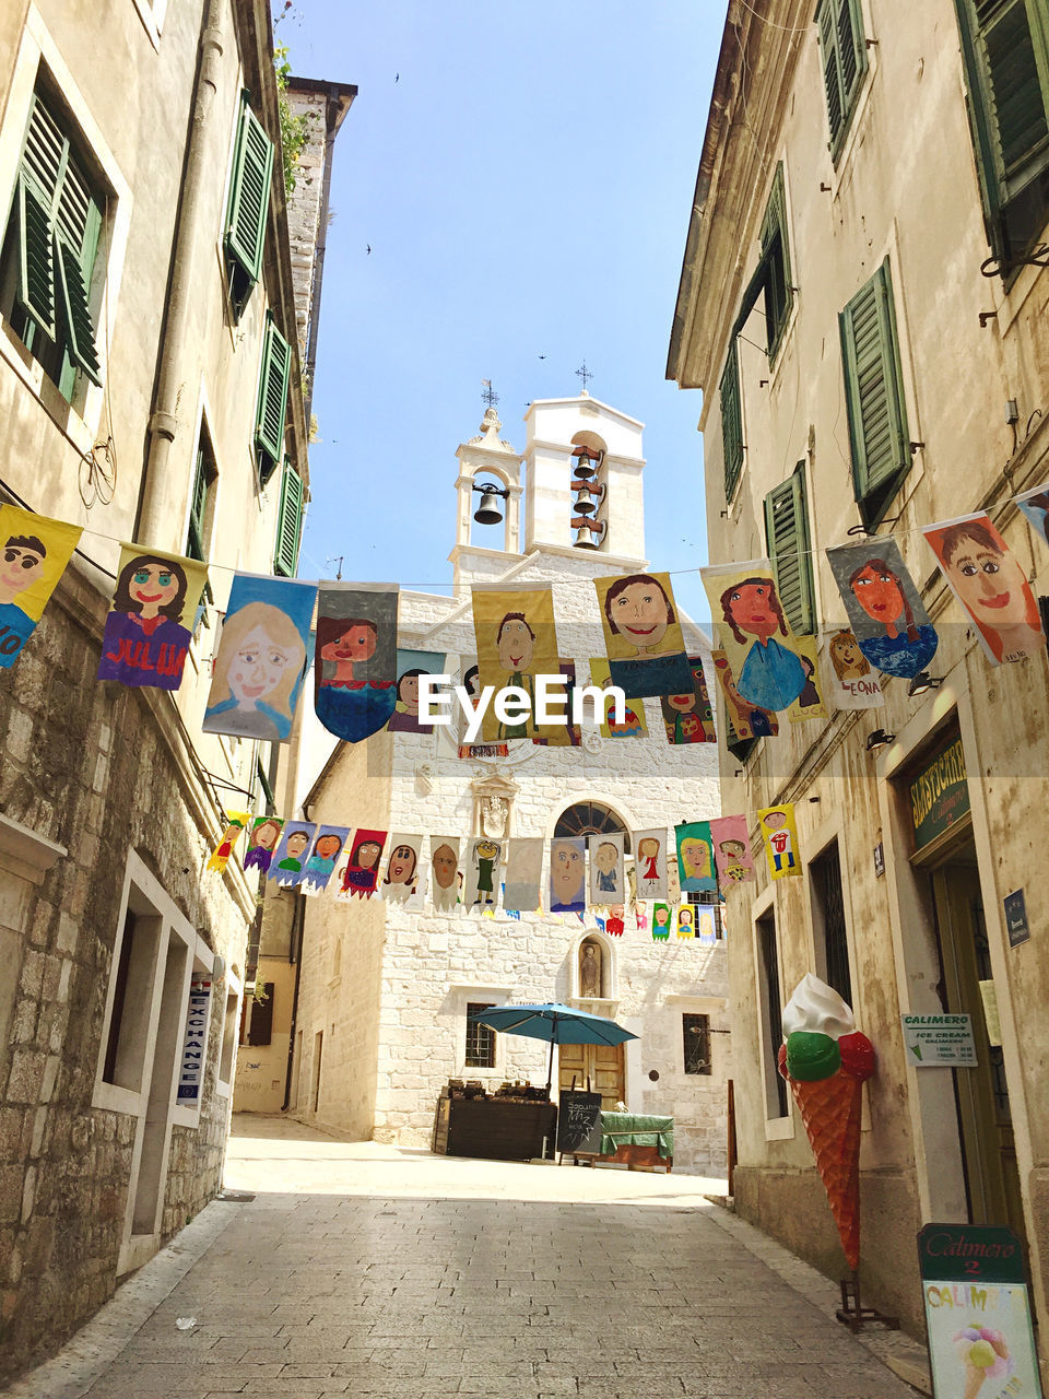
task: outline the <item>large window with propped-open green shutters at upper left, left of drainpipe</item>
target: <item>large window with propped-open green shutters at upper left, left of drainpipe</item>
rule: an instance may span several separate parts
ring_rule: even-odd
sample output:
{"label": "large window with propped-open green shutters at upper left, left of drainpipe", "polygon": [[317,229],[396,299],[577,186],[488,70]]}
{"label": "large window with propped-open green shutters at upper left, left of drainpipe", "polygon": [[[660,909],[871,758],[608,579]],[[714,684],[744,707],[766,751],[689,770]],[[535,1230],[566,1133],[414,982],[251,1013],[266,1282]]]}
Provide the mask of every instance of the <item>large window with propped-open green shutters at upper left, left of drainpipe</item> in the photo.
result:
{"label": "large window with propped-open green shutters at upper left, left of drainpipe", "polygon": [[83,375],[99,383],[91,281],[102,196],[60,119],[34,94],[3,243],[0,309],[70,403]]}

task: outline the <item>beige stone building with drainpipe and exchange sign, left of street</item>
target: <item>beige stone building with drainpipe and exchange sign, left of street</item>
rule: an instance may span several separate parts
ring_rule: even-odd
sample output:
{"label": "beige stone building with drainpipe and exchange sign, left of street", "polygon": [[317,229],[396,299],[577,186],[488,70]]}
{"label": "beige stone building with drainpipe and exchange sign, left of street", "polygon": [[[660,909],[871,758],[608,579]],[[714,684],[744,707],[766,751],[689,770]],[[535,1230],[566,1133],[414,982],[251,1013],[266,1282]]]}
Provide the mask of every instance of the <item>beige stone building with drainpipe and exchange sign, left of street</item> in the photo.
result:
{"label": "beige stone building with drainpipe and exchange sign, left of street", "polygon": [[[84,530],[0,683],[4,1375],[221,1185],[256,897],[204,865],[287,764],[200,725],[308,434],[269,7],[25,0],[0,55],[0,492]],[[210,567],[175,694],[95,680],[122,540]]]}

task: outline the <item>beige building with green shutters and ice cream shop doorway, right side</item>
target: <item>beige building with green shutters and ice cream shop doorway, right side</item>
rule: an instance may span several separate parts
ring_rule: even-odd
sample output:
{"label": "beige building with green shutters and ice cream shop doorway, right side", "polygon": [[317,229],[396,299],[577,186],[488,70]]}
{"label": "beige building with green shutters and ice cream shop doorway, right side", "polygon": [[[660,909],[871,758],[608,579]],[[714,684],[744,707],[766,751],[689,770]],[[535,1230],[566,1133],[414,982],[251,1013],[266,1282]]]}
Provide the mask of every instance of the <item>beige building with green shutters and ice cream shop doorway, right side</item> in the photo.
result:
{"label": "beige building with green shutters and ice cream shop doorway, right side", "polygon": [[[1013,504],[1049,477],[1048,34],[1043,0],[732,4],[667,367],[704,390],[711,561],[771,557],[825,684],[846,625],[828,547],[895,541],[939,630],[929,674],[883,676],[883,706],[722,750],[726,811],[757,839],[757,810],[793,802],[804,869],[729,900],[737,1209],[841,1276],[776,1074],[780,1007],[813,971],[878,1051],[862,1277],[912,1329],[932,1220],[1010,1226],[1046,1305],[1046,656],[987,662],[922,526],[990,512],[1048,590]],[[976,1067],[908,1051],[901,1016],[944,1013],[971,1016]]]}

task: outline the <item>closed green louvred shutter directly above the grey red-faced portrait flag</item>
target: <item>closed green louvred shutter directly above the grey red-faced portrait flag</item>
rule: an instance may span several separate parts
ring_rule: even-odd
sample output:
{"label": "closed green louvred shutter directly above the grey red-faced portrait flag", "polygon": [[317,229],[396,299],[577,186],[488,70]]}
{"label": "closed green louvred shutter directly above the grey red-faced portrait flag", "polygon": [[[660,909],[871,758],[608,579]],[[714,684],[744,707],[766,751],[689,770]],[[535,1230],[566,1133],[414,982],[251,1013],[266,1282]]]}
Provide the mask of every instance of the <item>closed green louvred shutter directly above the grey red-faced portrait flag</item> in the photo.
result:
{"label": "closed green louvred shutter directly above the grey red-faced portrait flag", "polygon": [[885,515],[911,467],[911,442],[899,365],[888,257],[838,318],[852,484],[863,523]]}

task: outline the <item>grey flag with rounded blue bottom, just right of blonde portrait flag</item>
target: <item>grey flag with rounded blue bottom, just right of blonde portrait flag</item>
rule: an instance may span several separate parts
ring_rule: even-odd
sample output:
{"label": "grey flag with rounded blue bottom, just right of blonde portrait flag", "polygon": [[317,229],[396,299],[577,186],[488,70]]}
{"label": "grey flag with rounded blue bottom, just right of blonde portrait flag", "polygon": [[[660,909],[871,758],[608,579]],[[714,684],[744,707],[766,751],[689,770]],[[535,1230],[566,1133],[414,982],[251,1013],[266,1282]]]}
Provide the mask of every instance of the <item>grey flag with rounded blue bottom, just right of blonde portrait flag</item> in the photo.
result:
{"label": "grey flag with rounded blue bottom, just right of blonde portrait flag", "polygon": [[396,583],[322,583],[313,708],[347,743],[378,733],[397,705]]}

